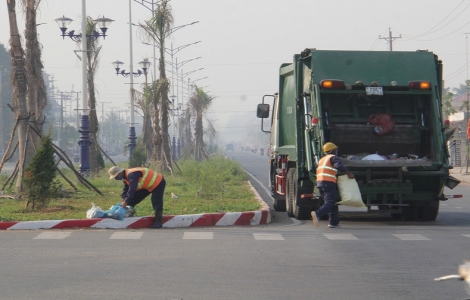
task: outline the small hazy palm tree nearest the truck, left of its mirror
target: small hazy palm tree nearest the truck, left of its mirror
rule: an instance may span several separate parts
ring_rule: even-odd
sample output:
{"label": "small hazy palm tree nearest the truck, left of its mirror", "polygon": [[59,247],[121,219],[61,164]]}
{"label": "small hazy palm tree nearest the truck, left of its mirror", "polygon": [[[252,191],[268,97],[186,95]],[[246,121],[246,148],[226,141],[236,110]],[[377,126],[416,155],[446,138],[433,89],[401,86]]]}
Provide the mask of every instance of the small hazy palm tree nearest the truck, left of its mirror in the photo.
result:
{"label": "small hazy palm tree nearest the truck, left of its mirror", "polygon": [[[194,125],[194,159],[197,161],[209,158],[204,148],[204,127],[202,119],[204,112],[211,106],[212,100],[214,100],[214,97],[209,96],[204,92],[203,88],[198,88],[197,86],[194,86],[193,95],[189,98],[189,105],[196,115],[196,123]],[[210,127],[213,129],[212,124],[210,124]]]}

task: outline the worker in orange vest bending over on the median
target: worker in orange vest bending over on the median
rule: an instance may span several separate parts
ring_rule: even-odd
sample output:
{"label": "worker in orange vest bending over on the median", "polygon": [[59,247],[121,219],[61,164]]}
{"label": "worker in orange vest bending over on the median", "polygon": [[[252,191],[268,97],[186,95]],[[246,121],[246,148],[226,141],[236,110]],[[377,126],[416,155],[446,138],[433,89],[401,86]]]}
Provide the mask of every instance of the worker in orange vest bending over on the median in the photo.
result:
{"label": "worker in orange vest bending over on the median", "polygon": [[121,207],[134,207],[149,194],[152,194],[152,207],[155,210],[155,222],[151,228],[161,228],[163,218],[163,193],[165,192],[165,179],[162,174],[148,168],[123,169],[114,166],[108,171],[109,179],[122,180]]}

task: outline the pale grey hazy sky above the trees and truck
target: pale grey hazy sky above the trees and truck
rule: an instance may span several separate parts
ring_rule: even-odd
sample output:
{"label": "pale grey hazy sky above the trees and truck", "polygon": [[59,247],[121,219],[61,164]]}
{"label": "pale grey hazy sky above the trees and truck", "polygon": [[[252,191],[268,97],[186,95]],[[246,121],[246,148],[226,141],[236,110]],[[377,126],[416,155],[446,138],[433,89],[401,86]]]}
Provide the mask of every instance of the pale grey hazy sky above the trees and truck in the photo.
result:
{"label": "pale grey hazy sky above the trees and truck", "polygon": [[[62,15],[72,18],[70,29],[80,31],[81,5],[81,0],[42,0],[38,14],[45,71],[54,75],[61,91],[72,87],[81,90],[81,63],[74,54],[76,44],[69,38],[62,40],[54,19]],[[305,48],[388,51],[389,43],[383,38],[388,38],[389,28],[393,37],[401,36],[393,41],[394,51],[427,49],[439,55],[447,87],[458,87],[468,78],[465,33],[470,33],[470,1],[172,0],[170,5],[175,26],[198,21],[177,30],[166,46],[170,48],[173,43],[173,48],[177,48],[201,41],[173,58],[184,62],[202,57],[185,63],[180,71],[184,74],[204,68],[185,75],[185,84],[188,78],[192,81],[207,77],[196,84],[215,97],[209,117],[220,132],[225,131],[229,117],[246,112],[255,115],[261,97],[278,90],[279,65],[291,62],[293,54]],[[150,11],[138,2],[132,1],[131,6],[133,23],[150,18]],[[8,49],[5,2],[0,7],[0,43]],[[23,32],[19,3],[17,11]],[[111,63],[119,59],[129,70],[129,0],[89,0],[87,15],[115,20],[109,27],[109,36],[100,40],[103,48],[96,87],[99,102],[112,102],[106,104],[105,111],[110,107],[124,109],[129,106],[129,78],[116,76]],[[134,27],[134,70],[145,57],[153,62],[152,47],[142,44]],[[167,60],[171,57],[167,56]],[[151,70],[153,73],[153,66]],[[134,82],[143,83],[144,77],[135,78]],[[245,129],[239,131],[242,130]],[[237,129],[226,132],[229,131],[236,133]]]}

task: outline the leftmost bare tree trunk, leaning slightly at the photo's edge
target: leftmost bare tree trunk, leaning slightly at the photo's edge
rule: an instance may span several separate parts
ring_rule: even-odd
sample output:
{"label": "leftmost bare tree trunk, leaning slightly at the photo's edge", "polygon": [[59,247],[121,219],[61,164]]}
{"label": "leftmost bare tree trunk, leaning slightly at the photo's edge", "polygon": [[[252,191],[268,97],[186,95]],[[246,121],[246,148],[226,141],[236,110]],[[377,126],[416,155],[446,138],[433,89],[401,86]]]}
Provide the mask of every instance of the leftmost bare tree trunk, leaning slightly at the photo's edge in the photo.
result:
{"label": "leftmost bare tree trunk, leaning slightly at the photo's edge", "polygon": [[24,153],[26,146],[26,132],[28,128],[28,109],[26,106],[26,73],[24,66],[24,51],[21,46],[20,33],[16,20],[16,1],[7,0],[8,19],[10,22],[10,55],[11,55],[11,83],[13,85],[13,109],[19,120],[18,142],[19,142],[19,175],[16,179],[15,190],[20,193],[23,185]]}

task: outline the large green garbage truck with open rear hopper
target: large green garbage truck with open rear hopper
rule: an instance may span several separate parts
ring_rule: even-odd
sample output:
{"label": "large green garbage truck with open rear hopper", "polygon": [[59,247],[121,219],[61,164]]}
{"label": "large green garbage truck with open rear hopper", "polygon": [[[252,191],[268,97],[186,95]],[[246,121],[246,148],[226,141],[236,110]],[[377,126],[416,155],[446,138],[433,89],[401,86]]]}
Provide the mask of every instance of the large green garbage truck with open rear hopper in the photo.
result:
{"label": "large green garbage truck with open rear hopper", "polygon": [[435,220],[439,203],[452,197],[445,187],[460,182],[449,175],[442,70],[427,50],[307,48],[282,64],[278,92],[257,107],[261,130],[270,134],[274,209],[311,218],[323,204],[316,168],[332,142],[368,212]]}

